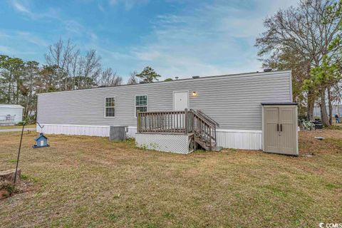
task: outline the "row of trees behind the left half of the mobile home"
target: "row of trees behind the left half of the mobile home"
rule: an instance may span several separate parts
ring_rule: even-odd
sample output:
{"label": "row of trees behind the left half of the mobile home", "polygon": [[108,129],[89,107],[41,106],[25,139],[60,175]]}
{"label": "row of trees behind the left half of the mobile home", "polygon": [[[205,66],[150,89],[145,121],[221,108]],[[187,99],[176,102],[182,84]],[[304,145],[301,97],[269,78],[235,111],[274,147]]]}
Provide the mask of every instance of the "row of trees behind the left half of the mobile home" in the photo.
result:
{"label": "row of trees behind the left half of the mobile home", "polygon": [[[64,90],[120,86],[123,78],[112,68],[103,68],[93,49],[83,55],[70,40],[59,40],[48,47],[46,63],[23,61],[0,55],[0,103],[24,106],[26,120],[36,118],[36,95]],[[127,84],[158,81],[152,68],[130,73]]]}

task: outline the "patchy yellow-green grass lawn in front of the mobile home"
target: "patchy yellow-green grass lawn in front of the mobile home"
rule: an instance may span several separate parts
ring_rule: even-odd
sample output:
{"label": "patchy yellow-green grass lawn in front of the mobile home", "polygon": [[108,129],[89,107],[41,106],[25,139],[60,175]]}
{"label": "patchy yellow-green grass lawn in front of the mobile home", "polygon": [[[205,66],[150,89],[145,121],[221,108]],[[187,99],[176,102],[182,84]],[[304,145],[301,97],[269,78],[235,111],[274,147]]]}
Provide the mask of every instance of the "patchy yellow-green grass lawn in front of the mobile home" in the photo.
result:
{"label": "patchy yellow-green grass lawn in front of the mobile home", "polygon": [[[15,167],[19,135],[0,133],[1,170]],[[24,133],[20,161],[33,186],[0,200],[0,227],[342,223],[342,130],[301,132],[299,157],[246,150],[177,155],[66,135],[48,135],[51,147],[32,149],[35,136]]]}

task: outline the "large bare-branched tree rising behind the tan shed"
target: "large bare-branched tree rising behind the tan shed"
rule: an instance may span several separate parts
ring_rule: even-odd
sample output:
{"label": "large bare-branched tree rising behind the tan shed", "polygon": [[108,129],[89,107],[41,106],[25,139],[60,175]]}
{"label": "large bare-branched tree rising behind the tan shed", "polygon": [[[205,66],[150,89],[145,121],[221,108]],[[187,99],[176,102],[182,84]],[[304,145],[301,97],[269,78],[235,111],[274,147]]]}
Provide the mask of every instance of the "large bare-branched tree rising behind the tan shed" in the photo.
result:
{"label": "large bare-branched tree rising behind the tan shed", "polygon": [[[298,53],[302,63],[309,63],[306,71],[306,79],[309,79],[311,68],[321,64],[329,44],[338,36],[341,18],[326,23],[327,12],[334,4],[333,0],[301,0],[298,7],[279,10],[274,16],[266,18],[264,26],[267,30],[257,38],[258,55],[267,59],[282,55],[284,50]],[[329,51],[333,53],[337,50]],[[311,120],[314,119],[316,90],[309,88],[307,91],[308,117]],[[323,123],[327,123],[326,88],[318,90],[323,107],[321,118]]]}

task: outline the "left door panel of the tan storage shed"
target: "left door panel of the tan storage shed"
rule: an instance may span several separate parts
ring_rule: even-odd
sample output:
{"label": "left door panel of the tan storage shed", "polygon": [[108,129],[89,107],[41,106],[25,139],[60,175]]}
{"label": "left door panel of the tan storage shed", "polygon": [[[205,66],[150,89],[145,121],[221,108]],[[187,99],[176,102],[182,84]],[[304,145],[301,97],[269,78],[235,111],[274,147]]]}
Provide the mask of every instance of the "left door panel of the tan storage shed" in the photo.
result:
{"label": "left door panel of the tan storage shed", "polygon": [[279,108],[267,107],[264,108],[264,137],[265,151],[279,152]]}

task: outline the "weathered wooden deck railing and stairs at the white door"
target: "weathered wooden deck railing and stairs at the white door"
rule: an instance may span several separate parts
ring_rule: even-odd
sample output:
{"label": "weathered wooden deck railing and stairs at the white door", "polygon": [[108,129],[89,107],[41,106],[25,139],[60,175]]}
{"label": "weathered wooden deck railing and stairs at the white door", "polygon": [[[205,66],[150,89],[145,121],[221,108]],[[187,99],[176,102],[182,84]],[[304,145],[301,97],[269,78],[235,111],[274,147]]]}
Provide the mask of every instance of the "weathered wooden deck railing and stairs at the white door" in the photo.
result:
{"label": "weathered wooden deck railing and stairs at the white door", "polygon": [[188,135],[190,150],[199,146],[204,150],[219,151],[216,128],[219,124],[201,110],[138,113],[138,133]]}

